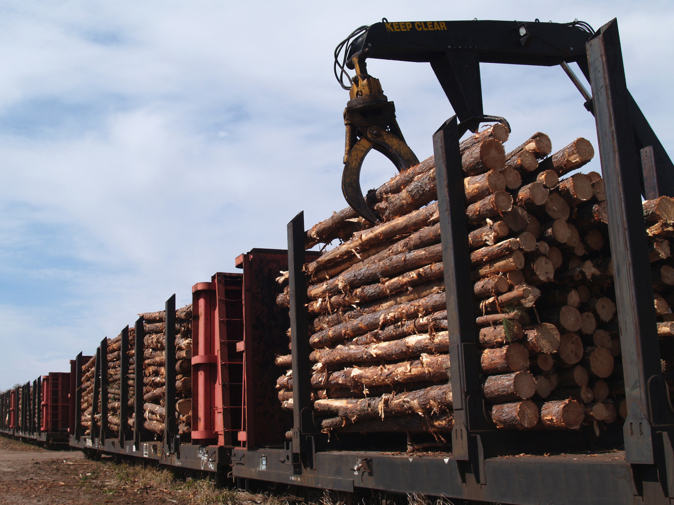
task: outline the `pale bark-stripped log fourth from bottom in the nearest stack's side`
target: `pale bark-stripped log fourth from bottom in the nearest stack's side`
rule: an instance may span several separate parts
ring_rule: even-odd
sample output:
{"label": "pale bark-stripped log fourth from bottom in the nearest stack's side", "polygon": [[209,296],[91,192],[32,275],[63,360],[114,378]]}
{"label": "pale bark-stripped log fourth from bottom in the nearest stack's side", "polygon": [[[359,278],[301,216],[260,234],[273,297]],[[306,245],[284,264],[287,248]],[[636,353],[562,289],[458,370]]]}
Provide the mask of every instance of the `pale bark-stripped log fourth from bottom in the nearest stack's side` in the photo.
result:
{"label": "pale bark-stripped log fourth from bottom in the nearest stack's side", "polygon": [[312,362],[321,362],[325,365],[397,361],[421,356],[421,354],[446,353],[449,348],[448,333],[442,331],[434,335],[410,335],[399,340],[368,345],[338,345],[332,349],[316,349],[311,352],[309,359]]}

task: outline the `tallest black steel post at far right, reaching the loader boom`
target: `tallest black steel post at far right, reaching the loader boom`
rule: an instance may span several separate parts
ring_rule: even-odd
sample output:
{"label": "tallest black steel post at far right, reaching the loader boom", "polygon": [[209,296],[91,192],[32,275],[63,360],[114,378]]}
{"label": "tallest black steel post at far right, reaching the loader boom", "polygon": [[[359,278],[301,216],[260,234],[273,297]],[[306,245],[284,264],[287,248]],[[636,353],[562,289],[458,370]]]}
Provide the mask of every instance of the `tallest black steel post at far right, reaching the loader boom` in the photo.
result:
{"label": "tallest black steel post at far right, reaching the loader boom", "polygon": [[588,42],[587,53],[610,217],[609,240],[627,399],[625,457],[630,463],[651,464],[654,462],[651,428],[653,424],[666,421],[666,412],[658,406],[665,407],[669,401],[664,394],[652,397],[652,391],[649,392],[649,381],[662,383],[663,378],[644,232],[640,173],[630,116],[631,97],[625,84],[615,20],[605,24]]}

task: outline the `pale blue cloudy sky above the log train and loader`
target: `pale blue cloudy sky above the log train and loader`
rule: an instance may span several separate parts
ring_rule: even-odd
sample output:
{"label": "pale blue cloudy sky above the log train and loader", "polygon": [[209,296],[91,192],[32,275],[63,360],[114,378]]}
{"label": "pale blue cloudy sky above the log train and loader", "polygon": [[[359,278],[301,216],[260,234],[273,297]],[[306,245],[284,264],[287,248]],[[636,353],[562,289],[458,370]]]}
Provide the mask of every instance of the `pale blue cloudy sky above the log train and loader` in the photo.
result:
{"label": "pale blue cloudy sky above the log train and loader", "polygon": [[[0,391],[69,371],[174,293],[189,303],[237,255],[286,248],[299,211],[309,228],[345,207],[348,93],[333,51],[361,25],[538,18],[596,30],[617,18],[627,86],[674,153],[674,5],[542,4],[0,0]],[[417,157],[431,156],[453,112],[430,66],[371,60],[368,71]],[[512,126],[506,151],[537,131],[553,151],[576,137],[596,148],[561,68],[481,71],[485,113]],[[363,189],[394,171],[371,154]]]}

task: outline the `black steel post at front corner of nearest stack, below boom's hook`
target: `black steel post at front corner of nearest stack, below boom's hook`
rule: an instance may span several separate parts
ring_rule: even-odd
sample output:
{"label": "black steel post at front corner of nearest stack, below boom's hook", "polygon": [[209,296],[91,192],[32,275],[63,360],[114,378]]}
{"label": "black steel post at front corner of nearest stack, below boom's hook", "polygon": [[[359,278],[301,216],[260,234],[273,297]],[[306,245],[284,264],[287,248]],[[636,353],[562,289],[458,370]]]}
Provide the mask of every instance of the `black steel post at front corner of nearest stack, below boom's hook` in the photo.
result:
{"label": "black steel post at front corner of nearest stack, below boom's hook", "polygon": [[452,363],[452,453],[455,459],[467,460],[469,432],[493,426],[485,420],[481,395],[459,137],[453,116],[433,135],[433,154]]}

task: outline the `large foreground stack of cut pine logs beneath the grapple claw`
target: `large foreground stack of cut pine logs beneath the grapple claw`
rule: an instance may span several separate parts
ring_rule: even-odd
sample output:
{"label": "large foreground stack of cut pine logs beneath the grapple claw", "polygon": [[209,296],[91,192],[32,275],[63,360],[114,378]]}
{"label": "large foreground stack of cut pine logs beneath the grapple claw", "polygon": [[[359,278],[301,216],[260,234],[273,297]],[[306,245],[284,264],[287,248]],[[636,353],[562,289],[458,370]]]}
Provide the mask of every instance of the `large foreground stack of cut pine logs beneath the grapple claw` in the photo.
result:
{"label": "large foreground stack of cut pine logs beneath the grapple claw", "polygon": [[[487,412],[498,428],[598,431],[626,415],[603,180],[596,172],[560,180],[594,149],[580,138],[551,154],[547,135],[536,133],[506,154],[508,135],[497,124],[461,143]],[[305,265],[313,408],[325,431],[452,429],[435,199],[429,158],[367,195],[382,224],[344,209],[307,232],[307,248],[346,240]],[[666,338],[674,201],[646,201],[644,215]],[[288,306],[287,287],[277,301]],[[665,346],[663,356],[673,380],[674,351]],[[290,356],[277,364],[289,368]],[[277,383],[286,409],[292,383],[291,370]]]}

